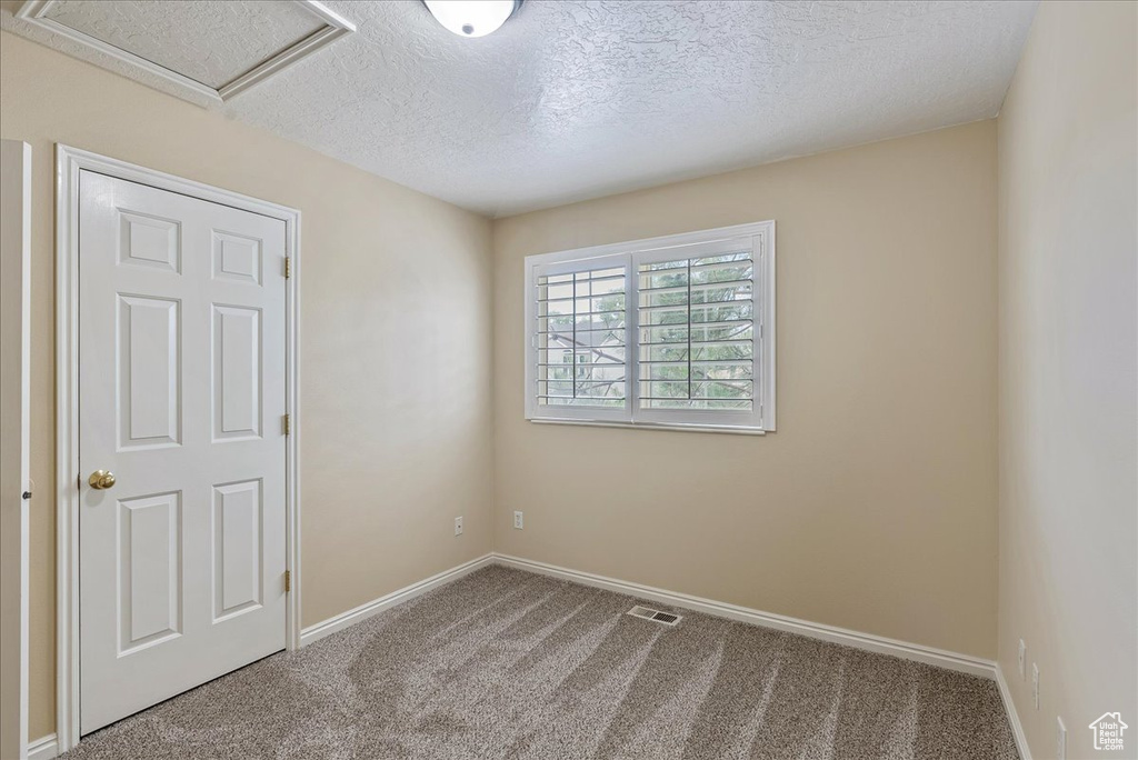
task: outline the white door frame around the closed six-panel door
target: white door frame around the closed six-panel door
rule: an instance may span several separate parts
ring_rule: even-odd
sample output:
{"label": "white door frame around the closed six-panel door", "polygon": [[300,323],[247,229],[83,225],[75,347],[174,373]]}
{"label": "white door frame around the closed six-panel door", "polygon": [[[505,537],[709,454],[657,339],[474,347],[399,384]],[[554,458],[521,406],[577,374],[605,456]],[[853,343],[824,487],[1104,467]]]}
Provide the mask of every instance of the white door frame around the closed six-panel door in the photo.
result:
{"label": "white door frame around the closed six-panel door", "polygon": [[262,214],[284,222],[284,600],[287,649],[300,646],[299,296],[300,212],[86,150],[56,144],[56,738],[66,752],[80,737],[79,628],[79,174],[81,170]]}

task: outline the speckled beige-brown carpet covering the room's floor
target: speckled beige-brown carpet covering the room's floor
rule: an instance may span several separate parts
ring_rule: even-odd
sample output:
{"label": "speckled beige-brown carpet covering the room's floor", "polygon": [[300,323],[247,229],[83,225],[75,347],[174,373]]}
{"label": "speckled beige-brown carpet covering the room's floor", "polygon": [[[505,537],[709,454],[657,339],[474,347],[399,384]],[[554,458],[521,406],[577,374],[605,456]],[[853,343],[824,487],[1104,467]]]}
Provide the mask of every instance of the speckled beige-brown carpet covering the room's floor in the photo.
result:
{"label": "speckled beige-brown carpet covering the room's floor", "polygon": [[669,628],[633,604],[490,567],[63,757],[1017,757],[992,681],[682,610]]}

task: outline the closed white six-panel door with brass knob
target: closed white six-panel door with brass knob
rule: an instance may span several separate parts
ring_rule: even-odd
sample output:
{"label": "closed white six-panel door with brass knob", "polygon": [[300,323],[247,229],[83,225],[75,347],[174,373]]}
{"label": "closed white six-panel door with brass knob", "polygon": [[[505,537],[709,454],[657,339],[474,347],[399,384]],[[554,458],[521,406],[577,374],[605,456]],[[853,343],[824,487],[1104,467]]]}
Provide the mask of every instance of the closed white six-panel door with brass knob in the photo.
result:
{"label": "closed white six-panel door with brass knob", "polygon": [[85,734],[284,647],[286,230],[88,171],[79,222]]}

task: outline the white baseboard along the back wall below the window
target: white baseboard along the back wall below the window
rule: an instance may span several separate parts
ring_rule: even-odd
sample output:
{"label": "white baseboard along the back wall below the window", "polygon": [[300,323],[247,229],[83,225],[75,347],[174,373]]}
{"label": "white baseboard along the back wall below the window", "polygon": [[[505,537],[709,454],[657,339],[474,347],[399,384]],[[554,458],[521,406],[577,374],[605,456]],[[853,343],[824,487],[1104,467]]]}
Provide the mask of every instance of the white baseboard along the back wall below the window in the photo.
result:
{"label": "white baseboard along the back wall below the window", "polygon": [[877,652],[879,654],[891,654],[893,656],[905,658],[906,660],[915,660],[926,664],[948,668],[949,670],[966,672],[972,676],[981,676],[983,678],[995,677],[995,662],[991,660],[974,658],[968,654],[947,652],[945,650],[937,650],[921,644],[899,642],[894,638],[885,638],[873,634],[863,634],[856,630],[836,628],[834,626],[826,626],[819,622],[789,618],[773,612],[752,610],[736,604],[727,604],[725,602],[716,602],[714,600],[706,600],[699,596],[678,594],[662,588],[653,588],[652,586],[642,586],[640,584],[632,584],[624,580],[617,580],[615,578],[605,578],[604,576],[595,576],[591,572],[580,572],[578,570],[559,568],[544,562],[523,560],[508,554],[494,554],[494,561],[498,564],[518,568],[519,570],[539,572],[546,576],[562,578],[564,580],[572,580],[586,586],[595,586],[610,592],[652,600],[654,602],[683,608],[685,610],[694,610],[696,612],[714,614],[720,618],[728,618],[731,620],[739,620],[741,622],[749,622],[756,626],[776,628],[778,630],[785,630],[800,636],[818,638],[824,642],[833,642],[835,644],[844,644],[846,646],[853,646],[868,652]]}

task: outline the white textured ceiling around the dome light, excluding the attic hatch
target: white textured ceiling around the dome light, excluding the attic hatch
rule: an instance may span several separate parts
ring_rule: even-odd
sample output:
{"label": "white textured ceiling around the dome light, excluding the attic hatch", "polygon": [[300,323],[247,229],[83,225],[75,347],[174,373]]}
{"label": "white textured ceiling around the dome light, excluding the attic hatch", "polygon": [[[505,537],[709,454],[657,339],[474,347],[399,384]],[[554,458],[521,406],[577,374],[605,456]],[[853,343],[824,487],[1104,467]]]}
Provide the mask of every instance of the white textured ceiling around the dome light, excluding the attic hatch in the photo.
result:
{"label": "white textured ceiling around the dome light, excluding the attic hatch", "polygon": [[325,5],[358,33],[221,108],[494,216],[991,117],[1036,8],[527,0],[471,40]]}

